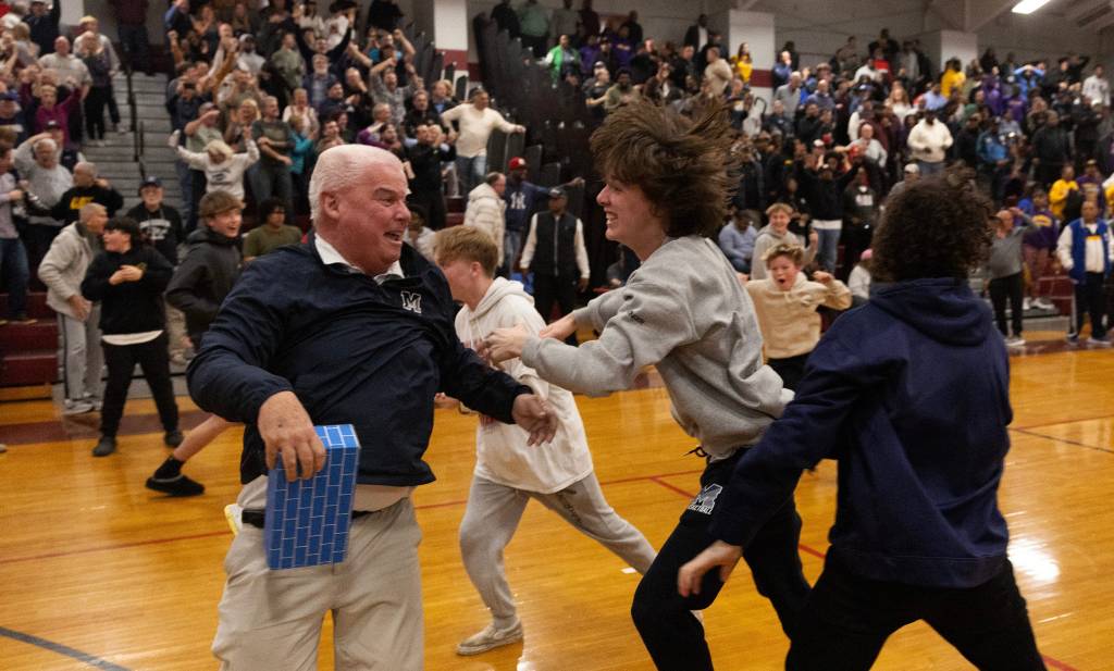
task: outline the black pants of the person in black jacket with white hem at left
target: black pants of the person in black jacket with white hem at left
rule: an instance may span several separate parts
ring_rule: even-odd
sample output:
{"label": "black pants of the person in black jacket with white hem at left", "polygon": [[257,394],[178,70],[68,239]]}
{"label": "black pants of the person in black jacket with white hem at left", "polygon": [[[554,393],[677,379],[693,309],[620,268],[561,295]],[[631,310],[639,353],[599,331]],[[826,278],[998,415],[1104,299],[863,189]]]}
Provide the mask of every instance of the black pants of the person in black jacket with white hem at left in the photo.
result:
{"label": "black pants of the person in black jacket with white hem at left", "polygon": [[105,385],[105,404],[100,409],[100,433],[115,436],[120,427],[120,416],[124,404],[128,399],[128,387],[131,385],[131,371],[139,364],[143,376],[150,387],[155,405],[158,407],[158,418],[165,431],[177,431],[178,405],[174,401],[174,386],[170,384],[170,358],[167,354],[167,335],[164,330],[154,341],[138,345],[109,345],[105,348],[105,364],[108,366],[108,383]]}

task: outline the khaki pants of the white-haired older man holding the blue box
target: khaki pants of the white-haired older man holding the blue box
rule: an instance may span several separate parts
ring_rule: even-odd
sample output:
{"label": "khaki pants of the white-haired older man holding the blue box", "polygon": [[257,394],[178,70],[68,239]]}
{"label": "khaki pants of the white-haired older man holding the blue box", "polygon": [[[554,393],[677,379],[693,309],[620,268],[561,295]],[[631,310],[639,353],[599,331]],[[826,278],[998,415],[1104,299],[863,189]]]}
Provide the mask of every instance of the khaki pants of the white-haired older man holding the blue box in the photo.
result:
{"label": "khaki pants of the white-haired older man holding the blue box", "polygon": [[244,526],[224,560],[228,578],[213,640],[221,669],[316,669],[331,611],[338,670],[421,671],[420,542],[409,499],[354,520],[341,564],[271,571],[263,530]]}

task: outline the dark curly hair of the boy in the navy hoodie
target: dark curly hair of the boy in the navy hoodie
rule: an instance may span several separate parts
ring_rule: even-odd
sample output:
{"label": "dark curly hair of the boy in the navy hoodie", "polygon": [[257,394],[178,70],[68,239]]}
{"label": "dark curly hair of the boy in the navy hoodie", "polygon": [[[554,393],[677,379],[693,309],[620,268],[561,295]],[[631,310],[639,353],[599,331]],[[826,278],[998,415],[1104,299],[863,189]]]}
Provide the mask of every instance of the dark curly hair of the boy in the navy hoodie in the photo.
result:
{"label": "dark curly hair of the boy in the navy hoodie", "polygon": [[986,258],[993,214],[969,170],[919,179],[886,203],[871,273],[881,282],[966,279]]}

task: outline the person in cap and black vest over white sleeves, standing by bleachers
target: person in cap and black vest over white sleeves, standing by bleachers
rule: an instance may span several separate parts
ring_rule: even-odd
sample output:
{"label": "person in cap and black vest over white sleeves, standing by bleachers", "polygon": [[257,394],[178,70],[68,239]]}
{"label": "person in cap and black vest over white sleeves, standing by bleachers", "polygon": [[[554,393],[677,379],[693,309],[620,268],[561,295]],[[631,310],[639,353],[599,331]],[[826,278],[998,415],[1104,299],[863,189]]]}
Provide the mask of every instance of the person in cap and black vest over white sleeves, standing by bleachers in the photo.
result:
{"label": "person in cap and black vest over white sleeves, standing by bleachers", "polygon": [[[522,275],[534,270],[534,306],[546,323],[554,303],[560,306],[561,315],[576,309],[576,294],[588,288],[592,274],[584,224],[568,211],[565,189],[554,187],[547,195],[549,209],[530,219],[521,260]],[[576,334],[567,342],[576,344]]]}

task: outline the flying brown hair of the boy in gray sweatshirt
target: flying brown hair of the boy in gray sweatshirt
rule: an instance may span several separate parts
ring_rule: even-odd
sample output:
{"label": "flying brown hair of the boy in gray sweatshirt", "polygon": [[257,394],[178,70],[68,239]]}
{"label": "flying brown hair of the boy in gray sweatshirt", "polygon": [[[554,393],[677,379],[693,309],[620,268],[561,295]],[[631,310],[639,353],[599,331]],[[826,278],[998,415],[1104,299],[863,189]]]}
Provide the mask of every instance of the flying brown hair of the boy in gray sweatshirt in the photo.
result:
{"label": "flying brown hair of the boy in gray sweatshirt", "polygon": [[731,125],[722,105],[695,120],[649,102],[623,106],[592,134],[592,156],[605,179],[637,186],[671,237],[716,235],[735,187],[729,172]]}

